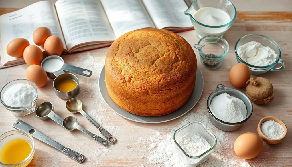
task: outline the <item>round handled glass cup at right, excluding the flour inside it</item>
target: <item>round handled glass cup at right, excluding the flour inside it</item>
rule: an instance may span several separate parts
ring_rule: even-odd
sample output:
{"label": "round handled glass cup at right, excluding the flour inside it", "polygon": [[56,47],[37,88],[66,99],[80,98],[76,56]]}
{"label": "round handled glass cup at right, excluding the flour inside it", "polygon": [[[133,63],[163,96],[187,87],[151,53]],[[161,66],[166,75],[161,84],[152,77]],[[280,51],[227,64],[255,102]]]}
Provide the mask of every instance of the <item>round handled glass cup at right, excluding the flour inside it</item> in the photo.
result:
{"label": "round handled glass cup at right, excluding the flour inside it", "polygon": [[[271,49],[273,49],[277,54],[276,61],[268,66],[254,66],[245,62],[243,59],[241,59],[239,55],[237,54],[238,47],[251,41],[260,42],[263,46],[268,46]],[[257,35],[257,34],[245,35],[238,39],[238,41],[235,44],[234,50],[235,50],[237,62],[246,64],[248,68],[251,70],[251,74],[254,74],[254,75],[263,74],[270,70],[281,71],[281,70],[284,70],[286,66],[285,61],[281,59],[281,49],[279,45],[277,44],[277,42],[275,42],[272,38],[266,37],[264,35]]]}

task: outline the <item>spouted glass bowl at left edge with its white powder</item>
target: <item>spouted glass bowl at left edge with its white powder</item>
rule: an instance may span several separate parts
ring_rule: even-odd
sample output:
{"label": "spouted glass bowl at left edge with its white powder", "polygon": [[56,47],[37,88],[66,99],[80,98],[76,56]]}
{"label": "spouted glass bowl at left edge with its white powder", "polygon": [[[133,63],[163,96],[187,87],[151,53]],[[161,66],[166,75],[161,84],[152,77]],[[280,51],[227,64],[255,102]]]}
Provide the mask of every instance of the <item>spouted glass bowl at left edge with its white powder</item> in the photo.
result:
{"label": "spouted glass bowl at left edge with its white powder", "polygon": [[37,99],[36,84],[26,79],[8,82],[0,92],[1,103],[16,116],[26,116],[34,112]]}

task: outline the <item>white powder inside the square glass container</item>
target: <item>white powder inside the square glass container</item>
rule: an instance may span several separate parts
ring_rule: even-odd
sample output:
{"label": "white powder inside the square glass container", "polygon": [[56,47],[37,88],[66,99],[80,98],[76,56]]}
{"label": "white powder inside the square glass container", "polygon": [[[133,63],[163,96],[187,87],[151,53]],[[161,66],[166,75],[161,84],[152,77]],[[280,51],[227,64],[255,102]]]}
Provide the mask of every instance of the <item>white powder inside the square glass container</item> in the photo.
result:
{"label": "white powder inside the square glass container", "polygon": [[211,148],[207,140],[197,132],[189,132],[178,140],[180,147],[190,156],[199,156]]}

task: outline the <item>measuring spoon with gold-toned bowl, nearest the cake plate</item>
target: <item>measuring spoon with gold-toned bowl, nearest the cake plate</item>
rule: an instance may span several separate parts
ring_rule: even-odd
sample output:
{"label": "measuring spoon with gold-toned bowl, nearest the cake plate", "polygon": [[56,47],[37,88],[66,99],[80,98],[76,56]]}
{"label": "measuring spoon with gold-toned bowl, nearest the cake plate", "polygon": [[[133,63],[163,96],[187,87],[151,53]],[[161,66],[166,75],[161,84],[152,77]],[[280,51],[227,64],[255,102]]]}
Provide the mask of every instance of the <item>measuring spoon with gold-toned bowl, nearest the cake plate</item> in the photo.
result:
{"label": "measuring spoon with gold-toned bowl, nearest the cake plate", "polygon": [[96,123],[90,116],[88,116],[83,110],[82,110],[82,103],[80,100],[73,98],[69,99],[66,102],[66,108],[71,113],[81,113],[87,120],[89,120],[90,123],[92,123],[99,131],[100,133],[109,141],[110,144],[114,144],[117,140],[115,137],[113,137],[107,130],[102,128],[98,123]]}

